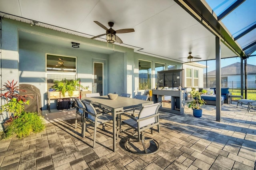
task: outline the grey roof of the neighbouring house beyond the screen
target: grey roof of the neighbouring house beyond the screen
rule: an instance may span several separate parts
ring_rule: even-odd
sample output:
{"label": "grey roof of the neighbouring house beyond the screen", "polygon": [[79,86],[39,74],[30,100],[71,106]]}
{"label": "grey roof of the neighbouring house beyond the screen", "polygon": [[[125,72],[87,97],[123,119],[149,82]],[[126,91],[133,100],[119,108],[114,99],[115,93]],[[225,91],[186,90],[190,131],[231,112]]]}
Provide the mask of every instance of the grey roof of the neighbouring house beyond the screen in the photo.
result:
{"label": "grey roof of the neighbouring house beyond the screen", "polygon": [[[215,76],[216,70],[209,71],[207,76]],[[221,68],[221,76],[225,75],[240,75],[241,74],[241,63],[236,62]],[[256,74],[256,65],[247,64],[247,74]],[[204,77],[206,73],[204,73]]]}

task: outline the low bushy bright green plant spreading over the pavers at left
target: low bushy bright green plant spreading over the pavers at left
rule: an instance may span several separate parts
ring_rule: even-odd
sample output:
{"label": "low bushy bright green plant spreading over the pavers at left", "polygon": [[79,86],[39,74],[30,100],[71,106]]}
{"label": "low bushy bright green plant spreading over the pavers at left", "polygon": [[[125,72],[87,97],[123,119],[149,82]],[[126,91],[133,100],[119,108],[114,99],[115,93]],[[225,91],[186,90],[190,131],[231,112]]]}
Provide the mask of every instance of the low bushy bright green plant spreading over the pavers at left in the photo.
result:
{"label": "low bushy bright green plant spreading over the pavers at left", "polygon": [[23,112],[20,117],[13,120],[5,131],[5,138],[16,134],[18,138],[26,137],[31,132],[38,133],[45,129],[44,119],[38,113]]}

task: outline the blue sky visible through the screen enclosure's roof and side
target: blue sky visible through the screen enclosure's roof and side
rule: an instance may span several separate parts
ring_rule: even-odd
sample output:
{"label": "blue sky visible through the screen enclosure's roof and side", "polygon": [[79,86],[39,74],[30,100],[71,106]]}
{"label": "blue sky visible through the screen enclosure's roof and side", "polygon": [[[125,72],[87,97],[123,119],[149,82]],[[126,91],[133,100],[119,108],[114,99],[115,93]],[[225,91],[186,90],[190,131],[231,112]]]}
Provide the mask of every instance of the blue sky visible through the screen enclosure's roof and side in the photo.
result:
{"label": "blue sky visible through the screen enclosure's roof and side", "polygon": [[[224,12],[228,7],[230,7],[236,0],[206,0],[208,5],[212,8],[214,13],[219,16]],[[235,10],[226,15],[220,22],[222,22],[230,34],[233,37],[238,36],[246,29],[250,28],[256,24],[256,0],[245,0],[240,4]],[[256,40],[256,29],[250,31],[246,35],[242,36],[236,42],[241,46],[241,48],[246,47],[251,42]],[[251,55],[256,55],[254,51]],[[207,62],[208,72],[216,69],[215,60]],[[233,57],[227,59],[221,59],[221,67],[225,67],[232,63],[241,62],[240,57]],[[206,64],[205,61],[199,62],[201,64]],[[256,56],[249,57],[247,59],[247,64],[256,65]],[[204,69],[204,72],[206,69]]]}

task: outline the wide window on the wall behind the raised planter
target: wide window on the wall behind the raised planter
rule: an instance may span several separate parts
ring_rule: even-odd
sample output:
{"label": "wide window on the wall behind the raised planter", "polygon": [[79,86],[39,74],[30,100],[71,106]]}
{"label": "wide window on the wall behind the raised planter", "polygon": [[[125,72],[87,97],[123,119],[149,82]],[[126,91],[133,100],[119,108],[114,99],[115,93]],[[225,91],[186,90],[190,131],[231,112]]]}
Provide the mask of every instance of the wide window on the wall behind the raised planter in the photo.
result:
{"label": "wide window on the wall behind the raised planter", "polygon": [[52,87],[54,80],[76,79],[76,58],[47,55],[46,59],[47,89]]}

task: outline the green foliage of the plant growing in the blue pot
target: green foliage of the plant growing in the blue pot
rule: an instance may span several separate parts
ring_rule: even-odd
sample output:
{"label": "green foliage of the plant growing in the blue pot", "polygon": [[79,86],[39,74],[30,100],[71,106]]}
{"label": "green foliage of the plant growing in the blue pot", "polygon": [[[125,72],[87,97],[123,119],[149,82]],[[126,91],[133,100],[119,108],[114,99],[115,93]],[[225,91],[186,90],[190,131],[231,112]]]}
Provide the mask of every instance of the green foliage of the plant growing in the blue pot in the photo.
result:
{"label": "green foliage of the plant growing in the blue pot", "polygon": [[190,95],[193,100],[188,102],[188,108],[200,109],[200,106],[206,104],[204,99],[201,98],[201,93],[198,92],[198,90],[196,90],[194,87],[192,88]]}

